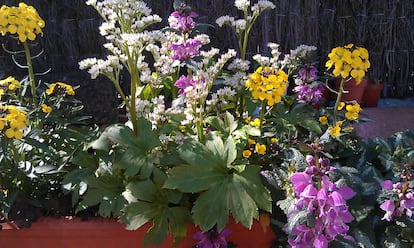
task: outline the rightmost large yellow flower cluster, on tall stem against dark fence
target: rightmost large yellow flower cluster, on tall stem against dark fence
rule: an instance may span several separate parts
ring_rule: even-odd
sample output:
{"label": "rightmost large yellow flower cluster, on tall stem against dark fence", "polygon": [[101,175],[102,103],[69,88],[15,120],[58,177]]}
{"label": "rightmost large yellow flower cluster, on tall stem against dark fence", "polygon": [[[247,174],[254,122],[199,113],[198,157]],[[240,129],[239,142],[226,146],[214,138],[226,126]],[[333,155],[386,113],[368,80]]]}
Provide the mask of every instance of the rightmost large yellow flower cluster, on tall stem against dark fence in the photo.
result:
{"label": "rightmost large yellow flower cluster, on tall stem against dark fence", "polygon": [[347,79],[352,77],[359,84],[365,76],[365,72],[371,66],[368,50],[353,44],[344,47],[335,47],[328,54],[329,60],[325,66],[334,67],[332,73],[336,77]]}

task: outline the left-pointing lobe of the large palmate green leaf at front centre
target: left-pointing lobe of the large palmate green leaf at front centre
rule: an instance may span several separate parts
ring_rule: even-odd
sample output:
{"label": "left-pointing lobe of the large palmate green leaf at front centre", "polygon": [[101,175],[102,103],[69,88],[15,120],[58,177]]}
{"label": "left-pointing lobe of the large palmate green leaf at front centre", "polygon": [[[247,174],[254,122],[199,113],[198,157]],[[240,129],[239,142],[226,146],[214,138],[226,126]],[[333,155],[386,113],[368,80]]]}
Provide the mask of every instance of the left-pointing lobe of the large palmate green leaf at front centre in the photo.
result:
{"label": "left-pointing lobe of the large palmate green leaf at front centre", "polygon": [[170,170],[164,187],[186,193],[209,189],[228,178],[226,168],[212,166],[177,166]]}

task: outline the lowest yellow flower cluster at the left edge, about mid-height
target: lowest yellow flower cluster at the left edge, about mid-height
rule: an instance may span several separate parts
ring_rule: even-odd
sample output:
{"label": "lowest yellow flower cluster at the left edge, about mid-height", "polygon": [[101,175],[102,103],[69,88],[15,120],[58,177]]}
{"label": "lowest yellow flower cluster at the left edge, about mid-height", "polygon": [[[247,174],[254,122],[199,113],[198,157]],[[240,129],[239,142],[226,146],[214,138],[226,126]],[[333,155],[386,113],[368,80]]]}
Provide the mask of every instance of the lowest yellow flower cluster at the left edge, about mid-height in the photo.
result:
{"label": "lowest yellow flower cluster at the left edge, about mid-height", "polygon": [[0,106],[0,131],[5,130],[7,138],[23,138],[23,129],[28,125],[26,113],[16,106]]}

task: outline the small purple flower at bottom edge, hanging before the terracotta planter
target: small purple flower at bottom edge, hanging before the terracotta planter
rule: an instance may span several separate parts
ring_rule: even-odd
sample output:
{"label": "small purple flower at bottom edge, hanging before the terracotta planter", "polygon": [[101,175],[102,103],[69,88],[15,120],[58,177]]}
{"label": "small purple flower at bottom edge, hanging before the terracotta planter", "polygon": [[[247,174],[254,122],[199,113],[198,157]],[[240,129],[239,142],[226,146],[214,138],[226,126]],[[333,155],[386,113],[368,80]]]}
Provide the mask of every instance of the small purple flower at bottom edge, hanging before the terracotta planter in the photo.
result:
{"label": "small purple flower at bottom edge, hanging before the terracotta planter", "polygon": [[217,233],[215,228],[208,232],[197,232],[194,239],[199,240],[196,248],[227,248],[226,238],[231,234],[229,229],[223,229]]}

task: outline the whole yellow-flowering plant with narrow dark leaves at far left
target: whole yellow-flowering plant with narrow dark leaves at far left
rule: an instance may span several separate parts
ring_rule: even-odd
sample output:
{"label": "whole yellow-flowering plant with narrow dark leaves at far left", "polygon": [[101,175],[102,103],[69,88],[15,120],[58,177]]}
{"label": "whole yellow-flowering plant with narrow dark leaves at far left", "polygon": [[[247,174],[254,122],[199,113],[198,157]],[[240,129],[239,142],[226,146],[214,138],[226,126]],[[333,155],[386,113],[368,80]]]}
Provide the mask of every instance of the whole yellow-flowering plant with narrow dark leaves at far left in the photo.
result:
{"label": "whole yellow-flowering plant with narrow dark leaves at far left", "polygon": [[75,98],[76,87],[63,82],[35,84],[32,59],[36,56],[30,55],[30,46],[43,34],[44,26],[33,6],[20,3],[0,8],[0,34],[22,46],[26,65],[17,66],[28,72],[27,79],[0,78],[1,215],[22,227],[36,216],[20,208],[35,212],[64,196],[58,185],[63,168],[87,137],[85,132],[92,133],[86,126],[77,126],[86,124],[86,117],[80,116],[83,106]]}

